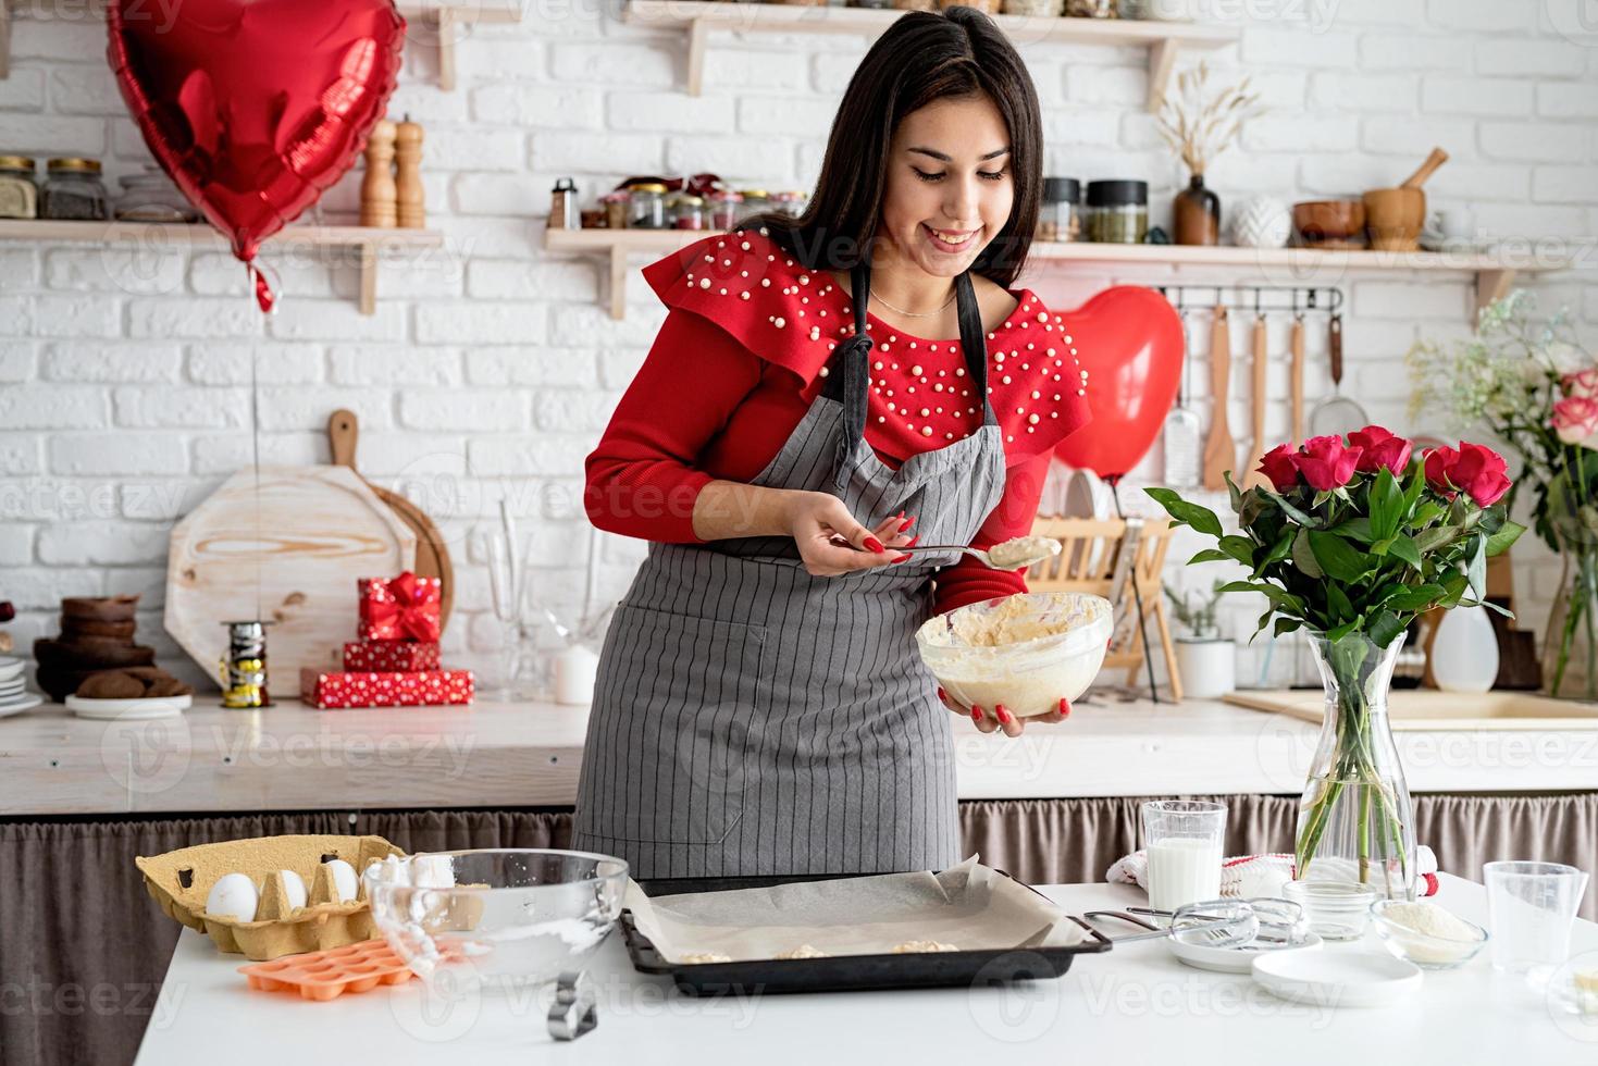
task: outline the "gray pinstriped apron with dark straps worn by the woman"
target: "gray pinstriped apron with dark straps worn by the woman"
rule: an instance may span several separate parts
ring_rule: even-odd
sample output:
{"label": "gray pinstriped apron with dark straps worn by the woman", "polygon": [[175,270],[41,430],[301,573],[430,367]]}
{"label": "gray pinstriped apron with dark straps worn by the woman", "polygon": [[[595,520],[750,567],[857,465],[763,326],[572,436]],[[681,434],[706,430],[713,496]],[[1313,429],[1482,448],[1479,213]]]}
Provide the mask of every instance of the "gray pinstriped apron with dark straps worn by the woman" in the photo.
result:
{"label": "gray pinstriped apron with dark straps worn by the woman", "polygon": [[[981,313],[956,280],[983,425],[888,468],[865,441],[869,270],[826,387],[751,484],[837,495],[866,527],[904,511],[970,543],[1005,455]],[[599,655],[574,847],[634,877],[941,869],[960,858],[949,711],[914,633],[954,553],[812,577],[791,537],[652,543]]]}

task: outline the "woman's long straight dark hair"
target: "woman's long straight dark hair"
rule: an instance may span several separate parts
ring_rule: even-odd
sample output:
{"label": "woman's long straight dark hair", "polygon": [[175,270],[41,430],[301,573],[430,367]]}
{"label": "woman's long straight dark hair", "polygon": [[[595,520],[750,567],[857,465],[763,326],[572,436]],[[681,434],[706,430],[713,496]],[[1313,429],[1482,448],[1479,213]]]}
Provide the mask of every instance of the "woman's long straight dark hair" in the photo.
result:
{"label": "woman's long straight dark hair", "polygon": [[1043,131],[1026,64],[992,19],[975,8],[911,11],[877,38],[849,80],[833,120],[821,176],[797,219],[761,214],[740,229],[769,235],[812,270],[847,270],[877,233],[888,144],[900,121],[940,99],[984,94],[1010,131],[1015,206],[972,270],[1010,288],[1037,229]]}

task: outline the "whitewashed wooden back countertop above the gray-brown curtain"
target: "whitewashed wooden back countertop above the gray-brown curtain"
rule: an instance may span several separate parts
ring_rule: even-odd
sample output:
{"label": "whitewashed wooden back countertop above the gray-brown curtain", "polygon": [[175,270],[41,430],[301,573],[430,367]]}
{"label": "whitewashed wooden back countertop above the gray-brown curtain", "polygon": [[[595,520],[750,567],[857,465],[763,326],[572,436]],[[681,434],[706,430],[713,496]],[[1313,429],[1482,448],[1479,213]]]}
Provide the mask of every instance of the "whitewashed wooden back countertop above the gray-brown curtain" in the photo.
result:
{"label": "whitewashed wooden back countertop above the gray-brown curtain", "polygon": [[[569,807],[586,708],[318,711],[299,702],[96,722],[59,705],[0,719],[0,813]],[[962,799],[1302,790],[1318,729],[1283,714],[1091,694],[1018,738],[954,719]],[[1401,732],[1416,793],[1598,790],[1598,730]]]}

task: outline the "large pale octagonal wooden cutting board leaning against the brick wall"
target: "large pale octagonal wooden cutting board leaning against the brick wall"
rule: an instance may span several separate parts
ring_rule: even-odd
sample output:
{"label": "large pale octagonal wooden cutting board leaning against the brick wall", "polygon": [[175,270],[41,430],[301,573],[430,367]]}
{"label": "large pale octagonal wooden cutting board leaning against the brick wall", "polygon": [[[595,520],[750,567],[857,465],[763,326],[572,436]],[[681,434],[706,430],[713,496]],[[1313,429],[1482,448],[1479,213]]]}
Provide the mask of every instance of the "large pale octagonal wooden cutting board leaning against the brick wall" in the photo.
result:
{"label": "large pale octagonal wooden cutting board leaning against the brick wall", "polygon": [[[265,619],[278,698],[300,666],[336,668],[356,633],[360,577],[415,567],[415,534],[345,467],[240,470],[173,527],[166,631],[209,678],[224,622]],[[259,590],[259,591],[257,591]],[[259,604],[259,607],[257,607]]]}

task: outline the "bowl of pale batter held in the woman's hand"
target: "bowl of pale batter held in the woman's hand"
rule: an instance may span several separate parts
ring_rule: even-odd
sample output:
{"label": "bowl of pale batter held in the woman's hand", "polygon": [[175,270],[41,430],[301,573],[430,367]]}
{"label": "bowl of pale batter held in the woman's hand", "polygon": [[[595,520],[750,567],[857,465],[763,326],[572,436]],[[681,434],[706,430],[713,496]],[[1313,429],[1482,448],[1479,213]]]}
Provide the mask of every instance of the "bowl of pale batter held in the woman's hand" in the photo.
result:
{"label": "bowl of pale batter held in the woman's hand", "polygon": [[1098,676],[1111,606],[1088,593],[1024,593],[967,604],[916,631],[920,660],[965,706],[1018,718],[1059,710]]}

